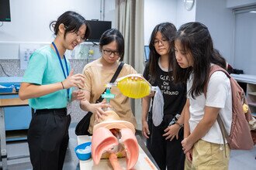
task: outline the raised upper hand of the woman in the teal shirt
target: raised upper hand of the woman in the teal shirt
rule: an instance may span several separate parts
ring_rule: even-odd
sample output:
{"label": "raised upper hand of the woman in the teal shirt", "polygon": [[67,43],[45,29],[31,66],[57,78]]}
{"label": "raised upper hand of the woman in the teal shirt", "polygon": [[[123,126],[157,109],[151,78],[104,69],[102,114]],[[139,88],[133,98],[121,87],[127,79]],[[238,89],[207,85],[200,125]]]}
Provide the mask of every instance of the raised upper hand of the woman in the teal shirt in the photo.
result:
{"label": "raised upper hand of the woman in the teal shirt", "polygon": [[74,70],[71,70],[71,73],[67,76],[62,83],[65,89],[69,89],[70,87],[78,87],[80,89],[85,88],[85,76],[81,73],[73,75]]}

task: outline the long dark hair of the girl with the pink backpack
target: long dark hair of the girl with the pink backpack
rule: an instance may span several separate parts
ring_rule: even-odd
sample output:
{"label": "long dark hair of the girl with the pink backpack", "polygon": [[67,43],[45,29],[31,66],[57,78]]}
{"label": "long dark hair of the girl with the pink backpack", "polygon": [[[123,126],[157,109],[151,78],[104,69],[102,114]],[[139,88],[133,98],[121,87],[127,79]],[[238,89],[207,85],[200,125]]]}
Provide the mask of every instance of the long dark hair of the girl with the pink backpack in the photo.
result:
{"label": "long dark hair of the girl with the pink backpack", "polygon": [[178,66],[177,60],[174,62],[175,82],[186,82],[193,73],[192,88],[189,93],[195,98],[203,93],[203,88],[209,76],[210,64],[217,64],[226,69],[226,60],[220,53],[213,49],[213,40],[209,30],[200,22],[185,23],[178,29],[175,41],[182,44],[182,50],[186,54],[190,53],[193,58],[193,66],[182,69]]}

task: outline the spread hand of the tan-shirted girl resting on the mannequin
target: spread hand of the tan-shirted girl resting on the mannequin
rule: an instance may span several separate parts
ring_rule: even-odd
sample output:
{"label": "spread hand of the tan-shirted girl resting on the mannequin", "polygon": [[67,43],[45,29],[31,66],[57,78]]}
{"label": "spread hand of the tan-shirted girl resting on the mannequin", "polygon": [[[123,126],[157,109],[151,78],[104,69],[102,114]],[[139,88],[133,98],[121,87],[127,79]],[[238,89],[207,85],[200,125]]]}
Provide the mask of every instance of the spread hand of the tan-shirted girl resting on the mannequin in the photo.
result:
{"label": "spread hand of the tan-shirted girl resting on the mannequin", "polygon": [[111,107],[109,104],[106,104],[106,100],[103,100],[101,103],[98,104],[91,104],[92,106],[92,113],[95,115],[95,120],[99,122],[100,119],[103,119],[103,115],[108,115],[103,108]]}

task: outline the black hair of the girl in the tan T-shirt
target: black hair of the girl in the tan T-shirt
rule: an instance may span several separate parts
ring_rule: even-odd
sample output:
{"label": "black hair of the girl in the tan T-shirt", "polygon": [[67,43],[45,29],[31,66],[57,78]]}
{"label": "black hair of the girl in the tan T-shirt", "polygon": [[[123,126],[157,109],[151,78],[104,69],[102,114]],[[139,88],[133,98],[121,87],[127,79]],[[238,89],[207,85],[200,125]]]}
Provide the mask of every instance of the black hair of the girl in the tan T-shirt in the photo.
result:
{"label": "black hair of the girl in the tan T-shirt", "polygon": [[120,57],[119,61],[123,61],[124,39],[123,35],[118,29],[108,29],[106,32],[103,32],[101,38],[99,39],[99,49],[102,51],[102,46],[106,46],[113,41],[116,41],[117,43],[117,51]]}

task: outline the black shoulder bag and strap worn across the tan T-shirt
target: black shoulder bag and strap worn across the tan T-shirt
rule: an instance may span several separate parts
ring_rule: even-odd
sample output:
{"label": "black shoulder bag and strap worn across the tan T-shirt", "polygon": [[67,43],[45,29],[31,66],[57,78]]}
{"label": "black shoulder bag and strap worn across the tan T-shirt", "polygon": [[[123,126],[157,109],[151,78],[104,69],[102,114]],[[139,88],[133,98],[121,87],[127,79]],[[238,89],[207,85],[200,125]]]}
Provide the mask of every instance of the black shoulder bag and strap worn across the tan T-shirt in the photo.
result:
{"label": "black shoulder bag and strap worn across the tan T-shirt", "polygon": [[[117,76],[119,75],[120,71],[123,68],[123,62],[121,62],[116,70],[116,73],[114,74],[114,76],[112,76],[112,79],[110,80],[110,83],[114,83],[116,81]],[[106,89],[103,91],[103,93],[106,92]],[[99,96],[99,99],[96,101],[96,103],[100,103],[102,102],[103,98],[102,95]],[[88,128],[90,125],[90,120],[92,117],[92,112],[88,111],[87,114],[85,114],[85,117],[83,117],[81,119],[81,121],[78,122],[77,126],[75,127],[75,134],[76,135],[89,135],[92,136],[92,134],[90,134],[88,132]]]}

